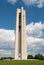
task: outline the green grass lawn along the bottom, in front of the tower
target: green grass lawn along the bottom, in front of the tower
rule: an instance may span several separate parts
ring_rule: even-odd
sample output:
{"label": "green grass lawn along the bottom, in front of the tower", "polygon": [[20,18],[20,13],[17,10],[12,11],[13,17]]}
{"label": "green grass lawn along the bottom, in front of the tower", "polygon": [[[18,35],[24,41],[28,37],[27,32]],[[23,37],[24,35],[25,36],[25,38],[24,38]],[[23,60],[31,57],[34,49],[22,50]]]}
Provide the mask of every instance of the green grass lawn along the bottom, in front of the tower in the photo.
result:
{"label": "green grass lawn along the bottom, in front of the tower", "polygon": [[44,60],[0,60],[0,65],[44,65]]}

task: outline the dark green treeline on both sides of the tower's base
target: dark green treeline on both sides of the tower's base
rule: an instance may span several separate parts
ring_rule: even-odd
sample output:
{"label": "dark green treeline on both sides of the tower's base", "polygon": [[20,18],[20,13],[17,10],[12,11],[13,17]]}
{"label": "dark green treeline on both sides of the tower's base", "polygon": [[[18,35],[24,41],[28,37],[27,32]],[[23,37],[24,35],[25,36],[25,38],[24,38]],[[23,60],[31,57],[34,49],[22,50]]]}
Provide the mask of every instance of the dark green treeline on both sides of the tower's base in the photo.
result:
{"label": "dark green treeline on both sides of the tower's base", "polygon": [[[1,57],[0,60],[12,60],[14,59],[13,57]],[[44,56],[42,54],[36,54],[35,56],[33,55],[28,55],[27,59],[38,59],[38,60],[44,60]]]}

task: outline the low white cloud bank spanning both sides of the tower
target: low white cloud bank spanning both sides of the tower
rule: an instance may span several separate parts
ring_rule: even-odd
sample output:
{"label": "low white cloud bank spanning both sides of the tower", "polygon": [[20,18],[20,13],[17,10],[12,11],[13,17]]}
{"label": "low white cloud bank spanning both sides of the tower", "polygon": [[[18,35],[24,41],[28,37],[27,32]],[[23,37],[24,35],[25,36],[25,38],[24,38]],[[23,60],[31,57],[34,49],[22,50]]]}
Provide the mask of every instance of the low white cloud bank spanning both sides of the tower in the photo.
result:
{"label": "low white cloud bank spanning both sides of the tower", "polygon": [[[26,26],[27,53],[44,54],[44,23],[30,23]],[[14,56],[15,31],[0,29],[0,57]]]}

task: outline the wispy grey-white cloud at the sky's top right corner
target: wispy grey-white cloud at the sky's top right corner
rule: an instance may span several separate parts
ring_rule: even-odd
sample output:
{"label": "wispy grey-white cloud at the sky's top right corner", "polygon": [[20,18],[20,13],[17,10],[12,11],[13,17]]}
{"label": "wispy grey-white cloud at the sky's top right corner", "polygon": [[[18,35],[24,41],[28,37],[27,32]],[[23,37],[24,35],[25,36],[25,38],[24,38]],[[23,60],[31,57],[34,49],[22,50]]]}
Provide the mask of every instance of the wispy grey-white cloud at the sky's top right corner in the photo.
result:
{"label": "wispy grey-white cloud at the sky's top right corner", "polygon": [[36,5],[38,8],[42,8],[44,6],[44,0],[23,0],[25,5]]}

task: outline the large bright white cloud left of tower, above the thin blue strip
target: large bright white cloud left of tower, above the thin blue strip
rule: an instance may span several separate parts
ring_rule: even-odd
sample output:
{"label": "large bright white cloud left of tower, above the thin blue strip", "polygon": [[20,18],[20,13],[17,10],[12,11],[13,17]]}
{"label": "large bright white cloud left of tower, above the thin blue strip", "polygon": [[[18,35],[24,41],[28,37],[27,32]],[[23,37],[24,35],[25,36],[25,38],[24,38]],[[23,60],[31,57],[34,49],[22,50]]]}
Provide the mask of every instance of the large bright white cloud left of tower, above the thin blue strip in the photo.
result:
{"label": "large bright white cloud left of tower, above the thin blue strip", "polygon": [[13,48],[15,43],[14,30],[0,29],[0,48]]}

